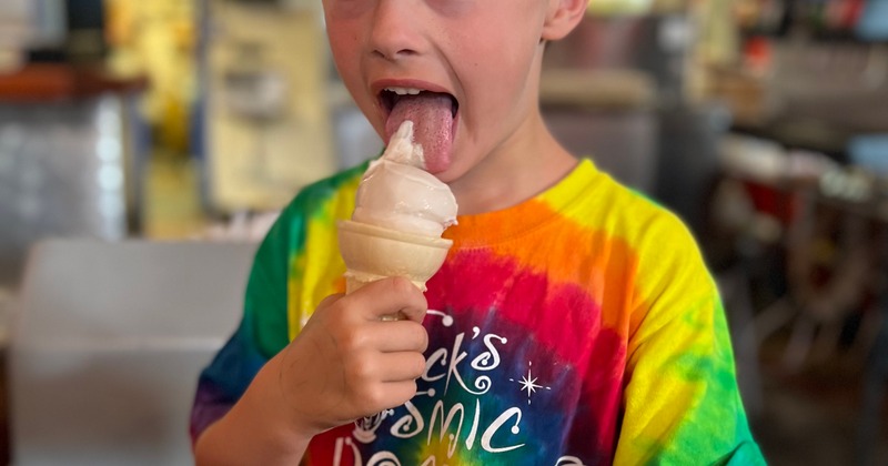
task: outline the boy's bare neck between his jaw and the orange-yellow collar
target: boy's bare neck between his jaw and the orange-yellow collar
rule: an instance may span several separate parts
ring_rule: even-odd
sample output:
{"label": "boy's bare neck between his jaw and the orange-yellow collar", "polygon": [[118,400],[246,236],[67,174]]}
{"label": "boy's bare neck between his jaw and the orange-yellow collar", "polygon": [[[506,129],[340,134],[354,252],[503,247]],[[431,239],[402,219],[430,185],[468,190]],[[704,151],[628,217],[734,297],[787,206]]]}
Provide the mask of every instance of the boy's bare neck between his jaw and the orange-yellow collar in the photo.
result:
{"label": "boy's bare neck between his jaw and the orange-yellow collar", "polygon": [[576,166],[537,113],[467,176],[451,183],[461,215],[493,212],[553,186]]}

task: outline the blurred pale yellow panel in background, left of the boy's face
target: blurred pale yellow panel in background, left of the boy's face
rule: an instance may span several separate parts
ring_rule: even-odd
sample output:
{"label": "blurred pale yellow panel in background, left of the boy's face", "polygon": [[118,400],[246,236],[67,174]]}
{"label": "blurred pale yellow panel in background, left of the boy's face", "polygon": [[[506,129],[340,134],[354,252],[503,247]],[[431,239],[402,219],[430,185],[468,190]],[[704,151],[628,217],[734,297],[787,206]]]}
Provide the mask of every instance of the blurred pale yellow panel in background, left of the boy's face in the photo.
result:
{"label": "blurred pale yellow panel in background, left of the boy's face", "polygon": [[[336,168],[321,16],[313,8],[211,2],[208,129],[211,200],[223,211],[283,206]],[[249,53],[243,44],[253,45]],[[251,119],[226,80],[256,70],[284,83],[281,113]]]}

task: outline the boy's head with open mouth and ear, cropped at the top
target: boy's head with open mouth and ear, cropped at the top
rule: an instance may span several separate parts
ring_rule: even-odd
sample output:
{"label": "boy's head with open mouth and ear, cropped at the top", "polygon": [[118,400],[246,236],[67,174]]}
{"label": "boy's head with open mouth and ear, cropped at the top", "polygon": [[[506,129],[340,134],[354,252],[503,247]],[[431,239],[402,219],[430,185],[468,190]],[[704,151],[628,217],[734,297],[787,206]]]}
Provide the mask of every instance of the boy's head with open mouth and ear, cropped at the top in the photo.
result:
{"label": "boy's head with open mouth and ear, cropped at the top", "polygon": [[[588,0],[323,0],[339,72],[387,141],[411,119],[428,171],[445,182],[545,131],[544,43]],[[416,94],[417,91],[421,91]]]}

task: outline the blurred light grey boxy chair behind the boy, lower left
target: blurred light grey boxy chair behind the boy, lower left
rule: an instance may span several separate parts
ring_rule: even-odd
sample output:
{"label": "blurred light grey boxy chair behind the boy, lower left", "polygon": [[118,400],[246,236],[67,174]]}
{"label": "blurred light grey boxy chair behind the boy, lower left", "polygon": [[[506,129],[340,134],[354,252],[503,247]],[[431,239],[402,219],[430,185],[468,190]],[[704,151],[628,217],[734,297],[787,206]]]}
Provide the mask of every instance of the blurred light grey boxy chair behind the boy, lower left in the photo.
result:
{"label": "blurred light grey boxy chair behind the boy, lower left", "polygon": [[192,464],[198,375],[239,322],[254,250],[39,244],[10,335],[13,464]]}

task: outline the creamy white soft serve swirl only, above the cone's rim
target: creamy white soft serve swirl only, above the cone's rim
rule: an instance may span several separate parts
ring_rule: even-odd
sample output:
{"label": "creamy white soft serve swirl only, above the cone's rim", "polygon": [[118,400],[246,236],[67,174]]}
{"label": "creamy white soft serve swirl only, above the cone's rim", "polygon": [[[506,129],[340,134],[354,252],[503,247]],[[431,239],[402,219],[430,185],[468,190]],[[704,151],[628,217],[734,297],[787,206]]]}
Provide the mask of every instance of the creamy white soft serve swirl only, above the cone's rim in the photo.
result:
{"label": "creamy white soft serve swirl only, above the cone's rim", "polygon": [[401,123],[382,158],[371,162],[357,188],[352,220],[425,236],[441,236],[456,223],[456,199],[450,186],[425,171],[412,121]]}

